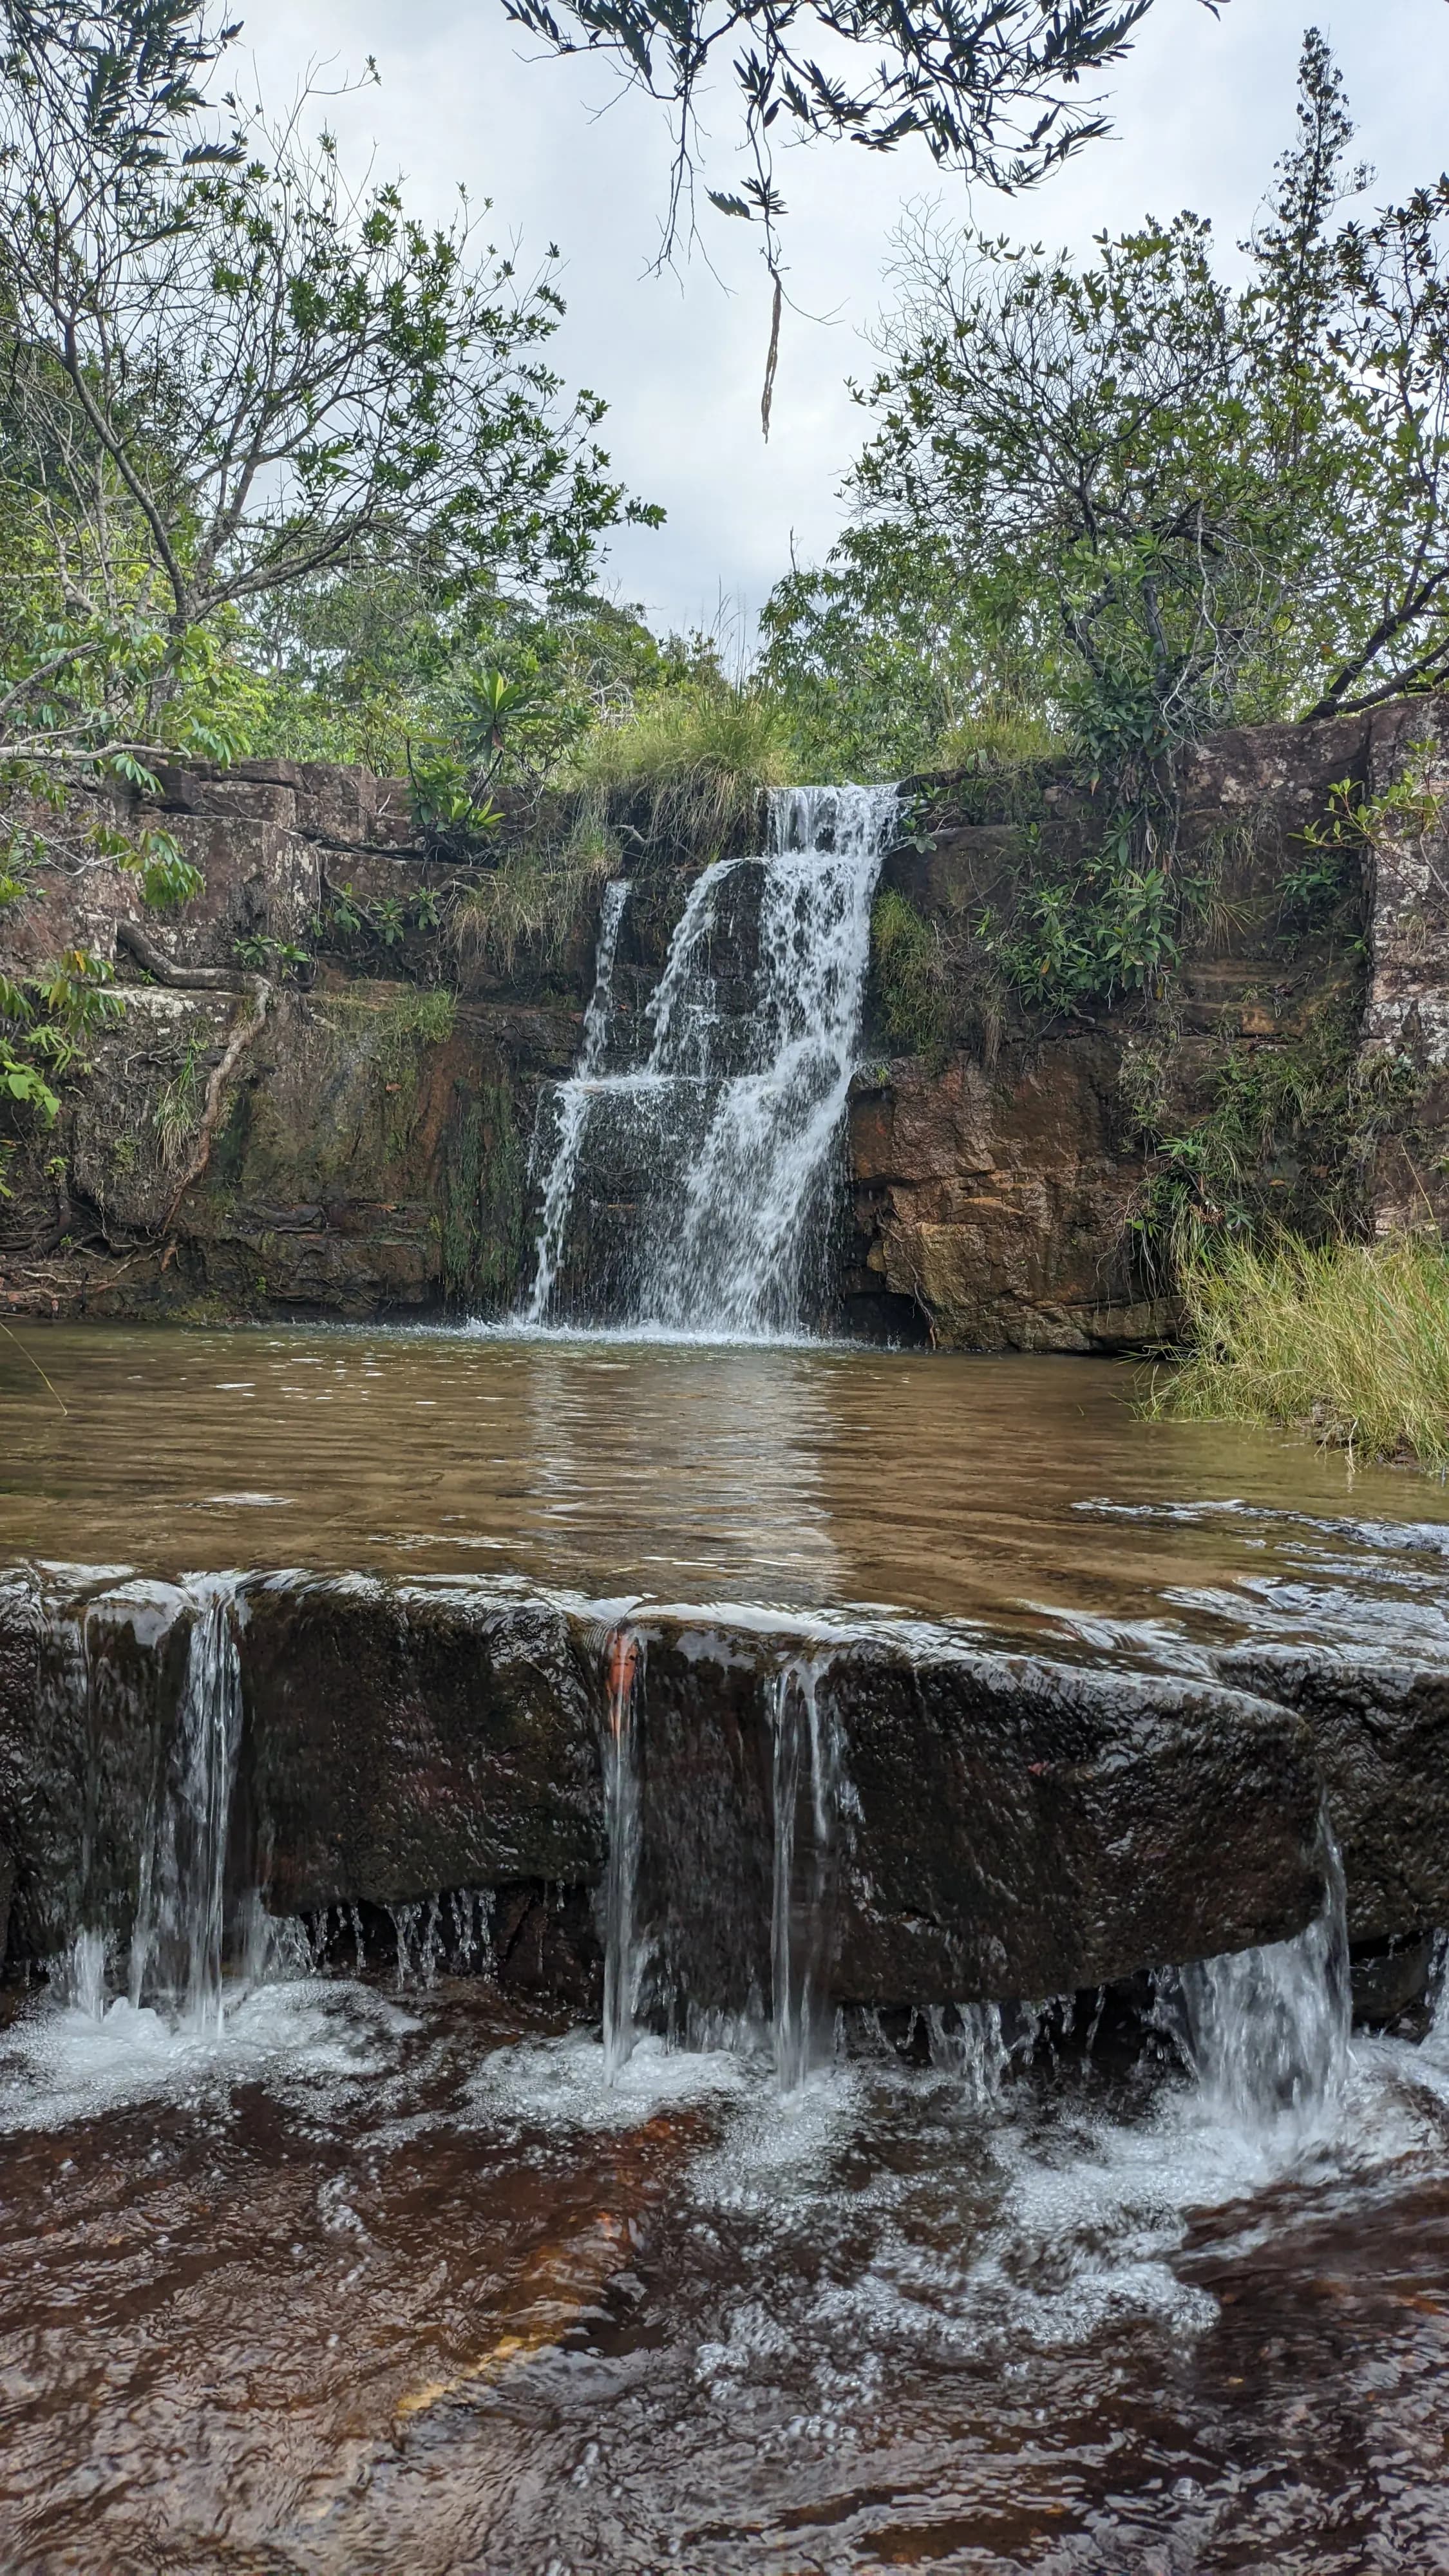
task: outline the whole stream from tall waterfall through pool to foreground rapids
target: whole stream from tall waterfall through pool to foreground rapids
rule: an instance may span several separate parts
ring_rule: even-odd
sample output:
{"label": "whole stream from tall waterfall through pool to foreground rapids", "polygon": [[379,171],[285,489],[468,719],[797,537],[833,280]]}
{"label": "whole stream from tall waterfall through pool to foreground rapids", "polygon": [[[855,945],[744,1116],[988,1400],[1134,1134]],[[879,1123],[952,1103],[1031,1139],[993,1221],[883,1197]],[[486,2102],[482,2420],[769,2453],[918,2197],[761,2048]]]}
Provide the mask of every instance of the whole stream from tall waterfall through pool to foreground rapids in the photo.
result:
{"label": "whole stream from tall waterfall through pool to foreground rapids", "polygon": [[513,1324],[0,1337],[5,2571],[1449,2571],[1449,1494],[807,1337],[895,814]]}

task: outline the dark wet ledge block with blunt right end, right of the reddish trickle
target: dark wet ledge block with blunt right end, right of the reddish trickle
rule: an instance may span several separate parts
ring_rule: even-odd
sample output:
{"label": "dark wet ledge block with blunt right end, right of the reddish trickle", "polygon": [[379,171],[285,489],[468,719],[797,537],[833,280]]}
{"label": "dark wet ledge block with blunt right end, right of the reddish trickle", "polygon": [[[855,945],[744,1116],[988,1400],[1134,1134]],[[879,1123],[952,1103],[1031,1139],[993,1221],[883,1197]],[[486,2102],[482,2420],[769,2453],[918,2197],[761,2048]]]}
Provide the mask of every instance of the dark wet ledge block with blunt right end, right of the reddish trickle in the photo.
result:
{"label": "dark wet ledge block with blunt right end, right of the reddish trickle", "polygon": [[1101,1986],[1284,1940],[1323,1904],[1323,1790],[1287,1708],[895,1638],[639,1633],[639,1919],[670,2020],[768,1999],[781,1829],[786,1901],[830,1911],[822,1968],[853,2004]]}

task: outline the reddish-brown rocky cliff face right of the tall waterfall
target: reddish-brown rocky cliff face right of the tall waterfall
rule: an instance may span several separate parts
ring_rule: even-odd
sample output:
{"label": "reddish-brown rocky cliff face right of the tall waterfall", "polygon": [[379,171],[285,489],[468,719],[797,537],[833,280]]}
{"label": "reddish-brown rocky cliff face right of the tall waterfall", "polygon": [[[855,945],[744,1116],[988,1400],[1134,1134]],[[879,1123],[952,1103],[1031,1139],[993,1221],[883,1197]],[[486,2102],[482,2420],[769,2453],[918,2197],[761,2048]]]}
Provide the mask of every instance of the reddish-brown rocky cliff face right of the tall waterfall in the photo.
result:
{"label": "reddish-brown rocky cliff face right of the tall waterfall", "polygon": [[[1372,837],[1343,824],[1343,781]],[[1114,1350],[1171,1332],[1152,1193],[1189,1175],[1173,1139],[1222,1100],[1225,1074],[1281,1092],[1256,1177],[1287,1218],[1333,1206],[1379,1231],[1444,1221],[1446,788],[1441,701],[1212,737],[1181,778],[1173,866],[1194,904],[1171,992],[1057,1018],[993,989],[980,935],[1008,902],[1024,827],[993,811],[990,783],[975,819],[936,793],[928,848],[895,850],[884,884],[931,927],[969,1007],[946,1043],[900,1056],[877,992],[851,1100],[846,1314],[954,1350]],[[1333,814],[1341,842],[1315,853],[1305,835]],[[1091,817],[1047,783],[1029,829],[1070,845]],[[1315,871],[1338,884],[1305,889]]]}

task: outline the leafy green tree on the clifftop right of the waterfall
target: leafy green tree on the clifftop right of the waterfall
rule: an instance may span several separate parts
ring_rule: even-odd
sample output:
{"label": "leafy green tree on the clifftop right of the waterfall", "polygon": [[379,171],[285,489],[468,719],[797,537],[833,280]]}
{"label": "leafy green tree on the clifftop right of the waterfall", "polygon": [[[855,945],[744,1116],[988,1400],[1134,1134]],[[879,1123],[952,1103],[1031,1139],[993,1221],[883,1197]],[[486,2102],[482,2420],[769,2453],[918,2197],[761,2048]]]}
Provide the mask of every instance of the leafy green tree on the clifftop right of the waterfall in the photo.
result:
{"label": "leafy green tree on the clifftop right of the waterfall", "polygon": [[[1104,234],[1085,265],[915,224],[828,582],[931,567],[902,631],[923,587],[985,598],[982,698],[993,636],[1036,634],[1039,706],[1116,778],[1209,721],[1446,677],[1449,183],[1341,222],[1366,185],[1348,142],[1310,31],[1243,286],[1194,214]],[[820,592],[781,585],[771,652],[817,618]]]}

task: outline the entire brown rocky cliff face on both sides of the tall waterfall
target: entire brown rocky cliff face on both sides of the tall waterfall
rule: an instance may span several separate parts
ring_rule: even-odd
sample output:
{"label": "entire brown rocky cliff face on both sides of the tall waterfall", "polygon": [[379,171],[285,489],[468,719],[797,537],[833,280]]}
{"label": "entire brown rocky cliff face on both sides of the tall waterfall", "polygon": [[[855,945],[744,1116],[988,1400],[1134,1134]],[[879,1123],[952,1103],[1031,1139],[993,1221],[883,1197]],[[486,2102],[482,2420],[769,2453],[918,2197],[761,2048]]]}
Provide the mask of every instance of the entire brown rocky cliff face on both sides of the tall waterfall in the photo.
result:
{"label": "entire brown rocky cliff face on both sides of the tall waterfall", "polygon": [[[1346,832],[1328,866],[1305,832],[1330,822],[1338,781],[1369,804],[1372,835]],[[1047,775],[1026,814],[993,781],[928,783],[882,884],[933,943],[936,1020],[928,1041],[902,1038],[877,976],[838,1321],[964,1350],[1171,1332],[1152,1213],[1225,1082],[1276,1082],[1289,1110],[1315,1087],[1330,1100],[1330,1115],[1261,1121],[1258,1182],[1287,1218],[1330,1203],[1377,1229],[1444,1221],[1446,788],[1441,701],[1212,737],[1181,778],[1173,866],[1194,902],[1171,989],[1052,1018],[1013,1005],[982,920],[1000,920],[1036,848],[1088,848],[1085,799]],[[578,1051],[598,894],[547,969],[523,948],[505,976],[428,927],[449,871],[413,840],[397,781],[294,762],[168,773],[150,819],[206,878],[178,920],[147,917],[131,876],[90,866],[41,873],[3,922],[10,971],[70,945],[113,958],[124,1018],[88,1041],[57,1128],[10,1118],[0,1298],[41,1314],[508,1311],[531,1257],[539,1087]],[[657,979],[681,858],[632,860],[624,1010]],[[317,938],[338,902],[382,930]],[[137,966],[147,945],[155,974]],[[312,958],[302,981],[278,969],[289,948]]]}

